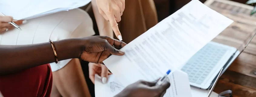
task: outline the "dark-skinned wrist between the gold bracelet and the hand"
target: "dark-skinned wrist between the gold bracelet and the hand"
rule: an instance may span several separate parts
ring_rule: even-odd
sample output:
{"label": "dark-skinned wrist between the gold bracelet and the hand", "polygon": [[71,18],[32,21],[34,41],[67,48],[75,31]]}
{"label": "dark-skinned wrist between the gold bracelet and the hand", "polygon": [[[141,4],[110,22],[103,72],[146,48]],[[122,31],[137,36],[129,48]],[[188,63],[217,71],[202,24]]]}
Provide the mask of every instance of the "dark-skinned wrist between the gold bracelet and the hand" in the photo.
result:
{"label": "dark-skinned wrist between the gold bracelet and the hand", "polygon": [[58,60],[80,58],[82,43],[79,38],[54,41]]}

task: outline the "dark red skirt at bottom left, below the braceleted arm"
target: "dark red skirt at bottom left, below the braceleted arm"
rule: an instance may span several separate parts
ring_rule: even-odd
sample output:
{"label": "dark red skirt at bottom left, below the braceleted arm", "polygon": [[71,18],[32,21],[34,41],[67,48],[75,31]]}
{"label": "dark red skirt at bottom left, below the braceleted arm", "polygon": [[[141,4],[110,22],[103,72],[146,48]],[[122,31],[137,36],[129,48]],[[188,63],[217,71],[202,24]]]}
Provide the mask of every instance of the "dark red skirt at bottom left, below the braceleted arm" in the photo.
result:
{"label": "dark red skirt at bottom left, below the braceleted arm", "polygon": [[52,91],[50,64],[0,76],[0,91],[4,97],[50,97]]}

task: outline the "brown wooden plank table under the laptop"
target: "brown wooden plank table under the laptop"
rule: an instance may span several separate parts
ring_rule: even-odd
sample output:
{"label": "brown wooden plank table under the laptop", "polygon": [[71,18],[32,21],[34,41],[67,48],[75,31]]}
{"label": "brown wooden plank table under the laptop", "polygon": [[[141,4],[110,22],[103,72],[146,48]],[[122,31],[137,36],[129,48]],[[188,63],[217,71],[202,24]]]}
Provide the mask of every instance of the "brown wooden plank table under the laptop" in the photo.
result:
{"label": "brown wooden plank table under the laptop", "polygon": [[[256,32],[256,15],[250,16],[252,6],[228,0],[208,0],[204,4],[234,20],[213,41],[241,50]],[[214,92],[228,89],[233,91],[234,97],[256,97],[256,37],[221,76]]]}

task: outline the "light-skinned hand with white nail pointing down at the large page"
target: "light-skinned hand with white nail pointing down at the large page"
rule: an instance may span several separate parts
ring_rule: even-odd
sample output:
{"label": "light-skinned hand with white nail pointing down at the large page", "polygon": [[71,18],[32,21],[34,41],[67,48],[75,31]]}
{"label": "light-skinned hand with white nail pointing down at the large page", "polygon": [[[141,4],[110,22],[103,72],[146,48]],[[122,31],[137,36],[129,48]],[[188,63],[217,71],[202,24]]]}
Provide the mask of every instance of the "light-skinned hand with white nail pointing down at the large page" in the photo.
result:
{"label": "light-skinned hand with white nail pointing down at the large page", "polygon": [[116,37],[122,40],[117,22],[121,21],[121,16],[125,10],[125,0],[96,0],[96,4],[99,13],[110,22]]}

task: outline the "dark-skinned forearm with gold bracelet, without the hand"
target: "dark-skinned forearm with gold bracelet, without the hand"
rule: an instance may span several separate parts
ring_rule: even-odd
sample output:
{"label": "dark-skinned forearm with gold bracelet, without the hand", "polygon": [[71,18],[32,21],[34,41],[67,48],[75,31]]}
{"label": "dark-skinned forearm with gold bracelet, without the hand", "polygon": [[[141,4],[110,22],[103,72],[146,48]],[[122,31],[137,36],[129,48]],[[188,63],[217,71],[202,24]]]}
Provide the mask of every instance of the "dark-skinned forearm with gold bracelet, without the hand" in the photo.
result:
{"label": "dark-skinned forearm with gold bracelet, without the hand", "polygon": [[[79,58],[77,39],[54,41],[58,60]],[[75,44],[74,44],[75,43]],[[31,45],[0,45],[0,74],[55,62],[50,42]]]}

